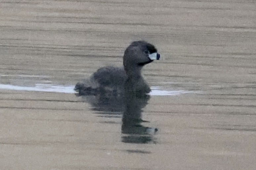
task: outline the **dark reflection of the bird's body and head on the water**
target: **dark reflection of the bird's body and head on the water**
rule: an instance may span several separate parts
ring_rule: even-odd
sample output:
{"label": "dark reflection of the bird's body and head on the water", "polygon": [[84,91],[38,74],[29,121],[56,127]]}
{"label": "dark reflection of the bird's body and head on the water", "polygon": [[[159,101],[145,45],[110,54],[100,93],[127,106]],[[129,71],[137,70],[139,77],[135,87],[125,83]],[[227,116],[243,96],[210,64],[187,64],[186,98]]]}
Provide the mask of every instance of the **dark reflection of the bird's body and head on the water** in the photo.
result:
{"label": "dark reflection of the bird's body and head on the water", "polygon": [[125,143],[156,143],[154,134],[157,128],[146,127],[142,123],[149,123],[142,119],[143,108],[148,104],[148,94],[124,93],[123,96],[112,94],[98,94],[83,96],[84,101],[92,105],[92,109],[101,111],[108,117],[122,115],[122,137]]}

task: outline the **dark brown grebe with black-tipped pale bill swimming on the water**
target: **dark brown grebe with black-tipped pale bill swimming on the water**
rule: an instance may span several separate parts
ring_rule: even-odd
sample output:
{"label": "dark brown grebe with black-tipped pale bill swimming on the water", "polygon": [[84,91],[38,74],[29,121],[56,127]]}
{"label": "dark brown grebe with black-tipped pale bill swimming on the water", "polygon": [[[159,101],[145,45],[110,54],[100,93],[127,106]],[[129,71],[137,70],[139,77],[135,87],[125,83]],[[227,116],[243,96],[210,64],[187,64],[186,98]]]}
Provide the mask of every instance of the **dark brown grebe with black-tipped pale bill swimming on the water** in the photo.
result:
{"label": "dark brown grebe with black-tipped pale bill swimming on the water", "polygon": [[89,79],[79,81],[75,86],[78,95],[109,94],[119,96],[124,92],[149,93],[150,87],[141,75],[144,65],[159,60],[157,49],[145,41],[131,43],[124,52],[123,68],[103,67]]}

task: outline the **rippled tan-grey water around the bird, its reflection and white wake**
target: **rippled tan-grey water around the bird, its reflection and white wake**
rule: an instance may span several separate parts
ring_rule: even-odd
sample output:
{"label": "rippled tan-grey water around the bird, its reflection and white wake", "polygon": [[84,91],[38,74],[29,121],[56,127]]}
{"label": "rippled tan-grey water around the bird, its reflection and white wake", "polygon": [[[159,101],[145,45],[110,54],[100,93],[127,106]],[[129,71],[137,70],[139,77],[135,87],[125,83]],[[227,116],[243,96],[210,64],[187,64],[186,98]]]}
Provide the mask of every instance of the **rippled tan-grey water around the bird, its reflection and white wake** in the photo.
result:
{"label": "rippled tan-grey water around the bird, its reflection and white wake", "polygon": [[162,55],[151,86],[197,92],[151,97],[155,144],[73,94],[2,89],[0,169],[255,169],[254,0],[2,0],[0,83],[75,85],[136,40]]}

